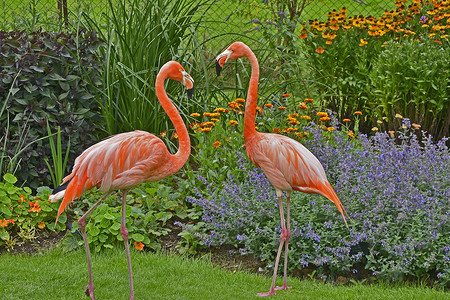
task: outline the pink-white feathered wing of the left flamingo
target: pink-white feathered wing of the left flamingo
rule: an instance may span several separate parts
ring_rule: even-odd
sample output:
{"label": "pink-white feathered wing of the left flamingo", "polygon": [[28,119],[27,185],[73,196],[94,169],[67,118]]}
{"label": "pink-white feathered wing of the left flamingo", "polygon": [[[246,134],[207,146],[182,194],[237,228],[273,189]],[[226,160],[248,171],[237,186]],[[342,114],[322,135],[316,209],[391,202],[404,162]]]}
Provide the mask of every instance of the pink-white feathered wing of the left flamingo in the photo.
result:
{"label": "pink-white feathered wing of the left flamingo", "polygon": [[120,133],[103,140],[76,158],[72,173],[62,183],[66,189],[60,209],[63,211],[68,203],[93,187],[109,191],[152,181],[152,177],[159,177],[155,170],[169,156],[164,142],[145,131]]}

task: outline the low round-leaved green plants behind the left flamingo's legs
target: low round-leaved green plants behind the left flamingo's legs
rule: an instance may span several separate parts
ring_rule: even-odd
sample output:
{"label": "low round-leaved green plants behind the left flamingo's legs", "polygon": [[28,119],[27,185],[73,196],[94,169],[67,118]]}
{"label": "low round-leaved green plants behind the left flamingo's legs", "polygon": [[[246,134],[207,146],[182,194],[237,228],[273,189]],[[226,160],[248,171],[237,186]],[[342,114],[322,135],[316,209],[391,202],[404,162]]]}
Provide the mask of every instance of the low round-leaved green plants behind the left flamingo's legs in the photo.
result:
{"label": "low round-leaved green plants behind the left flamingo's legs", "polygon": [[[72,212],[75,219],[79,219],[100,197],[97,190],[88,191],[82,200],[74,204]],[[185,218],[186,209],[180,201],[180,194],[174,192],[168,185],[160,183],[146,183],[130,191],[127,198],[126,224],[129,239],[139,250],[159,250],[161,245],[159,238],[170,232],[165,228],[166,222],[174,217]],[[106,203],[98,206],[89,216],[86,222],[86,234],[88,242],[100,252],[103,249],[111,249],[118,244],[123,244],[120,226],[122,221],[122,196],[109,196]],[[78,223],[72,222],[72,235],[64,240],[64,248],[72,250],[83,245]]]}

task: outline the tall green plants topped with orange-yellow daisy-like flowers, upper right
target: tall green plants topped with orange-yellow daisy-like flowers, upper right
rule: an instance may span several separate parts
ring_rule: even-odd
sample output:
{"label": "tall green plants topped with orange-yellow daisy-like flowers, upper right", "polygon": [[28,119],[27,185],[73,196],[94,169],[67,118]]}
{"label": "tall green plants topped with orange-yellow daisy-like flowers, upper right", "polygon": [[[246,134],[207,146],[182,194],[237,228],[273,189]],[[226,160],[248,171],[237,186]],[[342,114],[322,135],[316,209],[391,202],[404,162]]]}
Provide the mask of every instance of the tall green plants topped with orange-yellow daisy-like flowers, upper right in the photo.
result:
{"label": "tall green plants topped with orange-yellow daisy-like flowers, upper right", "polygon": [[443,1],[395,1],[380,17],[332,11],[327,22],[310,20],[300,38],[324,105],[340,119],[352,110],[370,112],[367,133],[376,120],[392,130],[401,113],[437,139],[448,136],[450,55],[448,5]]}

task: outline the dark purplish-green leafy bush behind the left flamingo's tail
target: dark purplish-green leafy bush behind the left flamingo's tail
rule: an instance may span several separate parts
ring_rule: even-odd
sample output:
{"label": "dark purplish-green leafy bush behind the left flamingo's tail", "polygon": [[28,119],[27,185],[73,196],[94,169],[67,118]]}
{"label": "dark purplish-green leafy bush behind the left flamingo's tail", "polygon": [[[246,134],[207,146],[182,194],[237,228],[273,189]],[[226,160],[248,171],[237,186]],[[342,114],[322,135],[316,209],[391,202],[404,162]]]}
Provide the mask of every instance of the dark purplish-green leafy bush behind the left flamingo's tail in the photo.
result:
{"label": "dark purplish-green leafy bush behind the left flamingo's tail", "polygon": [[70,162],[93,143],[101,118],[93,100],[93,86],[101,86],[101,43],[92,32],[0,31],[0,107],[7,101],[0,113],[0,155],[6,161],[0,173],[15,171],[32,188],[50,183],[43,160],[51,157],[48,139],[42,139],[47,121],[61,127],[63,151],[70,137]]}

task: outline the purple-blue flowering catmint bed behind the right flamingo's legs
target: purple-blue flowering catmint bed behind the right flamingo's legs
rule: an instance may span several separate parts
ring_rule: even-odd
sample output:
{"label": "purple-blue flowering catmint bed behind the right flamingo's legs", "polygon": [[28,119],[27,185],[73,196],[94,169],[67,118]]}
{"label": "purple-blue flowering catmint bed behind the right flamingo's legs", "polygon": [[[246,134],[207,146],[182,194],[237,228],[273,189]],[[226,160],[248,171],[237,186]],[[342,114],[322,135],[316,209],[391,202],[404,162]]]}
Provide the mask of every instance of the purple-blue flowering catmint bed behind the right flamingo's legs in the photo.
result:
{"label": "purple-blue flowering catmint bed behind the right flamingo's legs", "polygon": [[[419,141],[409,119],[396,137],[352,137],[331,116],[332,132],[312,124],[302,142],[319,158],[352,221],[350,230],[318,195],[292,194],[290,269],[333,280],[361,273],[380,280],[450,282],[450,152],[446,140]],[[202,211],[205,245],[231,244],[271,262],[281,228],[276,196],[261,170],[237,152],[240,180],[200,177],[187,201]],[[363,246],[365,245],[365,247]],[[366,249],[367,248],[367,249]],[[269,265],[268,268],[271,268]],[[363,270],[364,269],[364,270]]]}

